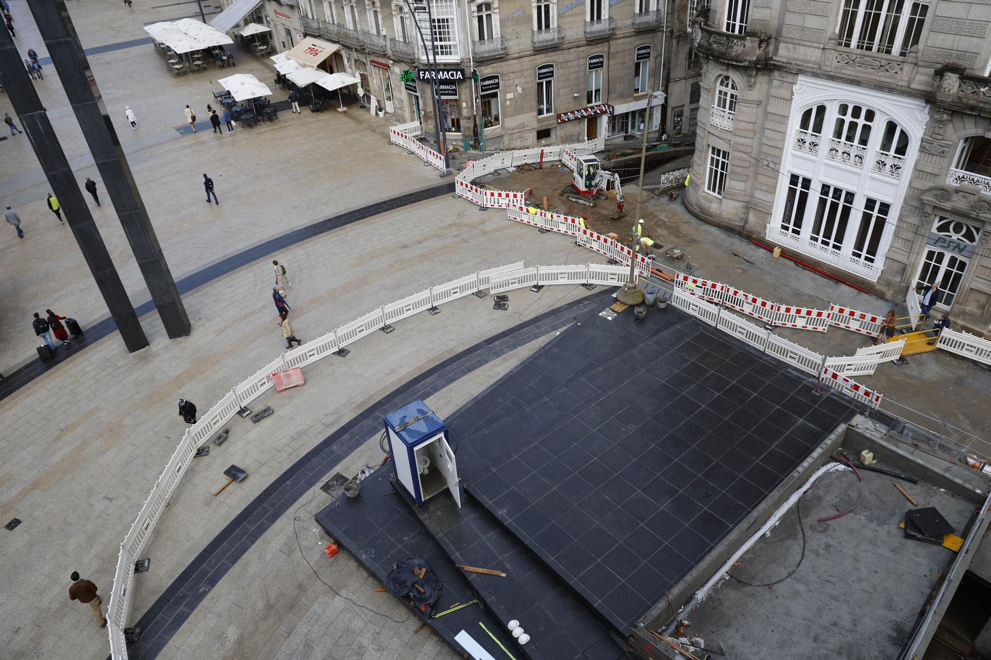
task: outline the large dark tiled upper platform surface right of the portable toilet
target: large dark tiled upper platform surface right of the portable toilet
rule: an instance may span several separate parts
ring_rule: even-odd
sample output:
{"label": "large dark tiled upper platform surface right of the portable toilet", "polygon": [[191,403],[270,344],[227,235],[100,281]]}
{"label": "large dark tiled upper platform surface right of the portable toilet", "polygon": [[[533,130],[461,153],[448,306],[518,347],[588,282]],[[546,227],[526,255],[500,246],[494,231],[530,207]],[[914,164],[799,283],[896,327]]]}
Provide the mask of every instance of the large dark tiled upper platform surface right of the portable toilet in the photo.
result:
{"label": "large dark tiled upper platform surface right of the portable toilet", "polygon": [[626,634],[856,404],[678,310],[582,323],[448,424],[468,492]]}

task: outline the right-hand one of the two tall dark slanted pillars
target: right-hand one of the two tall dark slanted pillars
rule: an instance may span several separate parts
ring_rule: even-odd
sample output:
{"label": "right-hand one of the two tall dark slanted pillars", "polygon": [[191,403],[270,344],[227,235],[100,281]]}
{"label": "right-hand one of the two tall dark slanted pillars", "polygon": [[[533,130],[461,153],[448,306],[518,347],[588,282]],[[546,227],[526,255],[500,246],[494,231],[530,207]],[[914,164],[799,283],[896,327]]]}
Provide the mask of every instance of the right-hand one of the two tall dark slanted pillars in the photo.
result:
{"label": "right-hand one of the two tall dark slanted pillars", "polygon": [[[152,293],[165,332],[170,339],[185,337],[189,334],[189,317],[175,281],[168,271],[159,238],[145,210],[113,123],[103,105],[65,2],[39,0],[29,3],[29,7],[49,49],[49,55],[52,56],[52,63],[61,78],[62,87],[75,112],[82,135],[86,138],[93,161],[100,170],[103,185],[120,218],[141,274]],[[120,108],[117,114],[123,120],[124,108]]]}

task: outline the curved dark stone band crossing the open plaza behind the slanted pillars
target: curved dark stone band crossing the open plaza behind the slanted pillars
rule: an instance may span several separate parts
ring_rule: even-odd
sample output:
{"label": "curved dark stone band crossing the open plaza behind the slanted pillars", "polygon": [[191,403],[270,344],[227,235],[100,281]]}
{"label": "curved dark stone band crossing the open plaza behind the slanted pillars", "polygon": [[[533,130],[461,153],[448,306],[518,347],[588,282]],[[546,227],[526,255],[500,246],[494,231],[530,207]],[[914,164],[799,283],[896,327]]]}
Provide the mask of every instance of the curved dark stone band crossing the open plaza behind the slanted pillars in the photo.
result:
{"label": "curved dark stone band crossing the open plaza behind the slanted pillars", "polygon": [[[175,285],[178,287],[180,294],[188,293],[189,291],[192,291],[203,284],[209,283],[218,277],[233,273],[234,271],[248,266],[259,259],[267,257],[277,250],[284,250],[289,246],[302,243],[303,241],[311,239],[314,236],[319,236],[320,234],[324,234],[334,229],[340,229],[341,227],[345,227],[353,222],[358,222],[359,220],[363,220],[365,218],[371,218],[388,211],[394,211],[395,209],[402,208],[403,206],[408,206],[409,204],[415,204],[417,202],[433,199],[434,197],[439,197],[443,194],[453,192],[454,182],[450,181],[447,183],[434,185],[429,188],[424,188],[422,190],[404,193],[396,197],[392,197],[391,199],[385,199],[374,204],[356,208],[353,211],[335,215],[332,218],[327,218],[326,220],[321,220],[311,225],[294,229],[290,232],[275,236],[275,238],[269,239],[259,245],[235,253],[215,264],[211,264],[203,269],[200,269],[199,271],[196,271],[195,273],[182,277],[175,282]],[[152,300],[145,300],[143,303],[135,307],[135,311],[138,313],[139,318],[154,310],[155,303]],[[27,320],[25,320],[25,326],[30,326]],[[116,332],[117,324],[114,323],[113,318],[108,316],[87,328],[83,328],[83,331],[83,336],[73,337],[71,343],[67,346],[59,347],[55,351],[55,359],[52,360],[52,362],[43,363],[41,360],[36,358],[35,360],[29,361],[26,365],[22,366],[15,372],[7,374],[6,380],[3,383],[0,383],[0,401],[10,396],[21,387],[28,385],[35,379],[40,378],[50,370],[55,369],[55,367],[65,362],[79,351]]]}

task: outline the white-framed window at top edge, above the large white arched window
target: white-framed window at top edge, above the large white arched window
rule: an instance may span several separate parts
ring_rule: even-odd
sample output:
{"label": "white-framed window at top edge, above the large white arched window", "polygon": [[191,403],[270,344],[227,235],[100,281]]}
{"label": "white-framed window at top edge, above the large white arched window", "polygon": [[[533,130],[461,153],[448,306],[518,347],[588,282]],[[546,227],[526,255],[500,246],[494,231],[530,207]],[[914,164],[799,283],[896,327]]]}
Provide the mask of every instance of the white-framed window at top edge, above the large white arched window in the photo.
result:
{"label": "white-framed window at top edge, above the large white arched window", "polygon": [[844,0],[838,45],[886,55],[909,54],[929,14],[929,3],[909,0]]}

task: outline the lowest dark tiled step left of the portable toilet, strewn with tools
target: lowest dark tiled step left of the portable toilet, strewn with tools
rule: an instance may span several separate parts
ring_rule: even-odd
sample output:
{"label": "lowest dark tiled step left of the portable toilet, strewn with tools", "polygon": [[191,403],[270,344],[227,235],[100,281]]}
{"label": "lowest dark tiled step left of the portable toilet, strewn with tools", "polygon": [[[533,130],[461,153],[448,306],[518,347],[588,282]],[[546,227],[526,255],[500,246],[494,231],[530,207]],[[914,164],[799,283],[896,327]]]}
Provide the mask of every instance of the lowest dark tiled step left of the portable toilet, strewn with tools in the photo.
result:
{"label": "lowest dark tiled step left of the portable toilet, strewn with tools", "polygon": [[[316,521],[379,580],[385,581],[392,565],[401,559],[425,559],[444,583],[440,598],[434,604],[436,612],[473,600],[472,585],[420,525],[402,495],[393,489],[389,481],[390,468],[391,464],[380,468],[363,481],[361,494],[354,499],[342,495],[325,506],[316,514]],[[482,605],[469,605],[439,618],[426,616],[415,607],[410,607],[409,611],[416,612],[459,653],[464,649],[454,637],[466,630],[494,658],[505,657],[480,622],[485,623],[506,648],[514,653],[520,648],[506,633],[505,625]]]}

